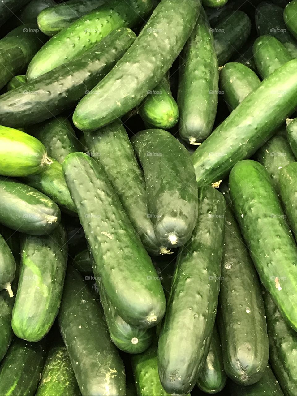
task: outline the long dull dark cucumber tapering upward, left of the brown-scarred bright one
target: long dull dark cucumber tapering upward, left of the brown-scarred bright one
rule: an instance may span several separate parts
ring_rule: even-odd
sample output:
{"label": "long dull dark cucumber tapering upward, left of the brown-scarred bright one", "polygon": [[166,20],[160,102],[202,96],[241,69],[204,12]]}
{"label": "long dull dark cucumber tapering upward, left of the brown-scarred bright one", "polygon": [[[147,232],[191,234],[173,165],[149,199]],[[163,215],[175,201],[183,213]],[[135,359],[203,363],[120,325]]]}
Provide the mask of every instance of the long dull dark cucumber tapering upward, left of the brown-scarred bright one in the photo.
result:
{"label": "long dull dark cucumber tapering upward, left of the brown-scarred bright one", "polygon": [[251,385],[268,362],[265,311],[257,272],[229,207],[221,276],[218,327],[224,369],[233,382]]}

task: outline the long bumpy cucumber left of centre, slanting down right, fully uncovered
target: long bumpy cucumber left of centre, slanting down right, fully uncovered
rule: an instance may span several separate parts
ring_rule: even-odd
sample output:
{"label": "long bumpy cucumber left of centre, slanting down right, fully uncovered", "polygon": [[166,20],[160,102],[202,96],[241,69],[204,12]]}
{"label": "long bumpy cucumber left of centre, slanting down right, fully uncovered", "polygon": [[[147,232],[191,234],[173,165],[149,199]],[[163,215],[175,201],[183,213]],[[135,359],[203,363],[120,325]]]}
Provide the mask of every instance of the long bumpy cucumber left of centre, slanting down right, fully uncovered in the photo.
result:
{"label": "long bumpy cucumber left of centre, slanting down right, fully uncovered", "polygon": [[127,323],[155,326],[165,311],[162,285],[102,166],[77,152],[65,158],[63,171],[95,260],[95,277]]}

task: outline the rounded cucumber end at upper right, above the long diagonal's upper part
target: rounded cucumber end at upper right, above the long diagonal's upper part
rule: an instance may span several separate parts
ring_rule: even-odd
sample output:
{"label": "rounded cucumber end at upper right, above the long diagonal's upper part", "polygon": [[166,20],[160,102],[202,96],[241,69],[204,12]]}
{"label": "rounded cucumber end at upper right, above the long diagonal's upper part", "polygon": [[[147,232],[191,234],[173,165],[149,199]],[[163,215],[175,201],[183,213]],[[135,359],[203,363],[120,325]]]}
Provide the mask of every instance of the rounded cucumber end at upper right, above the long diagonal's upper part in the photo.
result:
{"label": "rounded cucumber end at upper right, above the long diagonal's upper part", "polygon": [[292,59],[286,47],[277,38],[268,34],[255,40],[253,55],[262,78],[267,78],[274,70]]}

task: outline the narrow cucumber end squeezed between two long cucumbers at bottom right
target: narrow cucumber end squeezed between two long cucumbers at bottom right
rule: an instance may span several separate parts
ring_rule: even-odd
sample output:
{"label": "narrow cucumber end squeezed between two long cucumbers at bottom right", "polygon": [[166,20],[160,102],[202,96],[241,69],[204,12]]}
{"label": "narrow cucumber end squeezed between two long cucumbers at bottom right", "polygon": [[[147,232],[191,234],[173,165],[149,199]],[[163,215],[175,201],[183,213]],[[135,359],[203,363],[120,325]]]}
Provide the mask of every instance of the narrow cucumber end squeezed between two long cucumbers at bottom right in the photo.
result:
{"label": "narrow cucumber end squeezed between two long cucumbers at bottom right", "polygon": [[206,393],[220,392],[226,385],[227,377],[223,367],[222,347],[217,327],[213,328],[206,362],[198,379],[198,387]]}

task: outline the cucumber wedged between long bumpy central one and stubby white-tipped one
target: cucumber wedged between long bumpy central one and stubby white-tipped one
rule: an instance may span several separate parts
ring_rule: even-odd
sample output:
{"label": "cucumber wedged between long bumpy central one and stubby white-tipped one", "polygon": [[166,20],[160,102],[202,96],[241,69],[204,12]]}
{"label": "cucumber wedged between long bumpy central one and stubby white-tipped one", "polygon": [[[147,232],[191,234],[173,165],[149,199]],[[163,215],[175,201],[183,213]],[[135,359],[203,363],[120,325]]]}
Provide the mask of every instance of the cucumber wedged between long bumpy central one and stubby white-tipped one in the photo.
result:
{"label": "cucumber wedged between long bumpy central one and stubby white-tipped one", "polygon": [[84,136],[89,155],[103,165],[143,246],[150,255],[159,255],[161,245],[148,215],[145,180],[122,122],[114,121]]}

